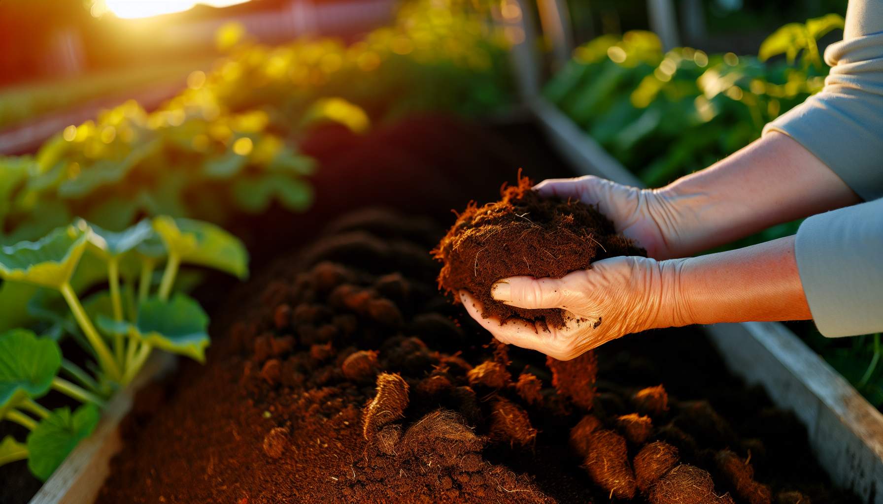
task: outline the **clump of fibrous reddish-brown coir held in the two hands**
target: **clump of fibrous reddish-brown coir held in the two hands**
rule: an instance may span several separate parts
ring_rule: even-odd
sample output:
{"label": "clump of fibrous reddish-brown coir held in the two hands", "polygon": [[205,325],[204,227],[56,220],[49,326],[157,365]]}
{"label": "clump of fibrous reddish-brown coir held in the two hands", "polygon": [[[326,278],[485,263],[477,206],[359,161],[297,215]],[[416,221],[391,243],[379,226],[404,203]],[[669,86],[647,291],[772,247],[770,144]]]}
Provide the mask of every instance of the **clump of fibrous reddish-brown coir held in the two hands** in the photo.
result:
{"label": "clump of fibrous reddish-brown coir held in the two hands", "polygon": [[[474,202],[433,251],[442,261],[439,288],[455,294],[468,290],[483,305],[485,318],[521,317],[563,327],[560,308],[525,310],[495,301],[494,282],[509,276],[561,278],[586,269],[592,261],[621,255],[645,256],[629,238],[617,235],[613,222],[574,200],[541,198],[527,177],[517,186],[503,184],[502,199],[479,207]],[[459,298],[459,297],[457,297]]]}

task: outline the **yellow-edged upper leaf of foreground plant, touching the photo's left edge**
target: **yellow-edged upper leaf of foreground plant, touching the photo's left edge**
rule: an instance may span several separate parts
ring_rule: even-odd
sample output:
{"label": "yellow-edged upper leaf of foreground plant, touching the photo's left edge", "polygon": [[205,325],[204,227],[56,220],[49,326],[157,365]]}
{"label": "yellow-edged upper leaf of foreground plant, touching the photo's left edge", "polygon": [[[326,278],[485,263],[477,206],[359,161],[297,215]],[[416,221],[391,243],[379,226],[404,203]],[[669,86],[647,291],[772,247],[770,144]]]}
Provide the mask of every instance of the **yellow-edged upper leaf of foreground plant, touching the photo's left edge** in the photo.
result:
{"label": "yellow-edged upper leaf of foreground plant, touching the photo's left edge", "polygon": [[71,279],[87,236],[87,228],[67,226],[36,242],[0,246],[0,277],[58,289]]}

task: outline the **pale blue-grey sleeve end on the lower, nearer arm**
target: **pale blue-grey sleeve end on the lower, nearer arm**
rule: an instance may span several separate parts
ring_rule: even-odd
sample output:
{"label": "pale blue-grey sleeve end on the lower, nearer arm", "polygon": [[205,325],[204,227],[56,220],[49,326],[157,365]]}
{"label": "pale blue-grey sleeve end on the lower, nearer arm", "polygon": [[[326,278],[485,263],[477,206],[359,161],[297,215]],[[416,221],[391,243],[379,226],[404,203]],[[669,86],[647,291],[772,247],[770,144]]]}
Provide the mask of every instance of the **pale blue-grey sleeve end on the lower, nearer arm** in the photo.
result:
{"label": "pale blue-grey sleeve end on the lower, nearer arm", "polygon": [[827,337],[883,331],[883,199],[806,219],[795,255],[806,301]]}

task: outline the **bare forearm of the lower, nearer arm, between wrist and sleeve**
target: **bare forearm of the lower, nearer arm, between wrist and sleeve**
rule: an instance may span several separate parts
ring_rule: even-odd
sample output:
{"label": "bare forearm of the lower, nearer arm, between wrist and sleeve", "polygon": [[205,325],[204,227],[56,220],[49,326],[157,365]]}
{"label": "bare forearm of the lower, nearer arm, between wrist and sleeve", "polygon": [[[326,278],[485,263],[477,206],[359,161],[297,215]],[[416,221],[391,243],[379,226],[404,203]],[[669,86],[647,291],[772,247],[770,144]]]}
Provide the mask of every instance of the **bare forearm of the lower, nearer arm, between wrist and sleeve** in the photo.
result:
{"label": "bare forearm of the lower, nearer arm, between wrist and sleeve", "polygon": [[659,327],[809,320],[794,237],[685,260],[660,262]]}

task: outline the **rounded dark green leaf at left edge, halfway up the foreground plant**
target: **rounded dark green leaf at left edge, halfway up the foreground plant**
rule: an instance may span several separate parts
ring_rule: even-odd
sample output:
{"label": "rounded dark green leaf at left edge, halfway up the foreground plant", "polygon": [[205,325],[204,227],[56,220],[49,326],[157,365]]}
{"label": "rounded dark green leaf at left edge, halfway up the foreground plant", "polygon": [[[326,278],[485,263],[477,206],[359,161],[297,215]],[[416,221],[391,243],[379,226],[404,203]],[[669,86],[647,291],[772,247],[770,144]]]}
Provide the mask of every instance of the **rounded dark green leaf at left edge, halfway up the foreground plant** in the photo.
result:
{"label": "rounded dark green leaf at left edge, halfway up the foreground plant", "polygon": [[27,329],[0,335],[0,417],[21,400],[49,392],[61,367],[58,343]]}

